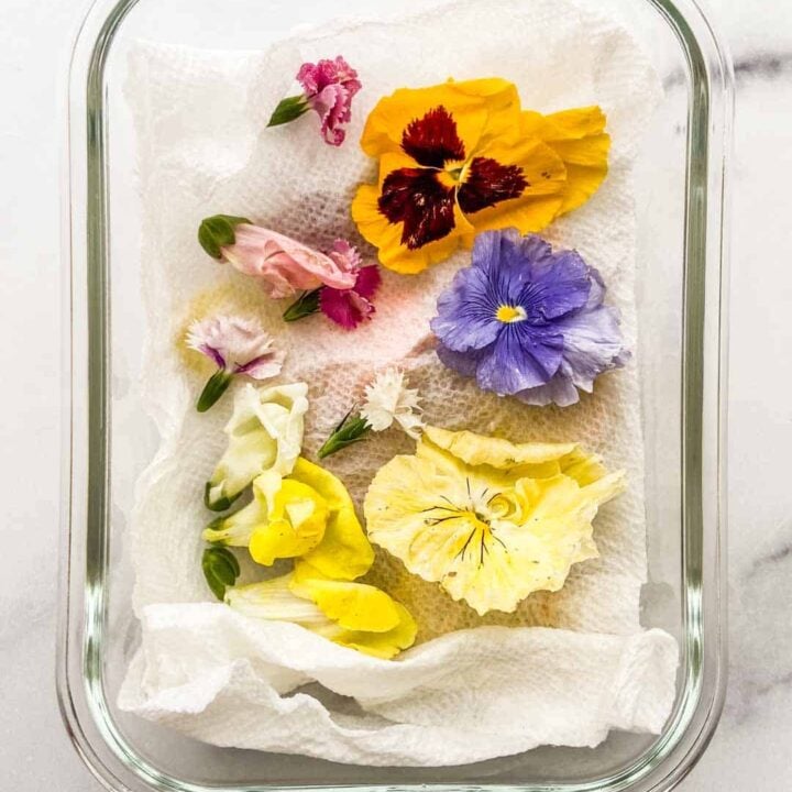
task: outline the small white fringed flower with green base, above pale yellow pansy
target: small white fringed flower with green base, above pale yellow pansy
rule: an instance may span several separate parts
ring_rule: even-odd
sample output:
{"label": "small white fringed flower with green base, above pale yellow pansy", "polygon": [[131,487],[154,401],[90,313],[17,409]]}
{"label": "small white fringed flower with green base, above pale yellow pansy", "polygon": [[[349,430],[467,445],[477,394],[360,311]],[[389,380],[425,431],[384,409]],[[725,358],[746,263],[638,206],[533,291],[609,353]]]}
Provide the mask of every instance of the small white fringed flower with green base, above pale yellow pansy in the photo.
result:
{"label": "small white fringed flower with green base, above pale yellow pansy", "polygon": [[385,431],[394,424],[414,440],[418,439],[424,428],[419,403],[418,391],[407,387],[404,372],[397,369],[381,372],[366,385],[360,409],[350,410],[319,449],[319,459],[361,442],[372,431]]}

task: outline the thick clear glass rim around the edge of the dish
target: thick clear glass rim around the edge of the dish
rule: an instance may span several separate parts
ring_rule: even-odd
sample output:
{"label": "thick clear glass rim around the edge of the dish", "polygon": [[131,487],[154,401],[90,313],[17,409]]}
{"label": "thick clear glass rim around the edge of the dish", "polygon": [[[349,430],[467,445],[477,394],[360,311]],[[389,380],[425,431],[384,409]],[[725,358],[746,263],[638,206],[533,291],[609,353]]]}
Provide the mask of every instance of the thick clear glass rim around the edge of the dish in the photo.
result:
{"label": "thick clear glass rim around the edge of the dish", "polygon": [[[710,743],[725,697],[725,448],[728,245],[725,216],[733,112],[728,53],[694,0],[648,0],[673,30],[688,67],[682,485],[685,624],[681,693],[663,733],[629,766],[569,784],[351,784],[366,790],[487,789],[503,792],[668,790]],[[161,772],[125,740],[105,691],[108,527],[108,185],[105,67],[116,33],[139,0],[97,0],[73,48],[68,174],[64,190],[64,470],[57,692],[80,757],[109,790],[253,792],[258,785],[204,785]],[[717,289],[707,284],[715,283]],[[714,373],[712,372],[715,367]],[[712,426],[703,416],[712,415]],[[87,439],[87,441],[86,441]],[[90,486],[88,486],[90,482]],[[81,684],[76,684],[77,681]],[[131,773],[128,776],[128,773]],[[337,789],[333,785],[290,790]]]}

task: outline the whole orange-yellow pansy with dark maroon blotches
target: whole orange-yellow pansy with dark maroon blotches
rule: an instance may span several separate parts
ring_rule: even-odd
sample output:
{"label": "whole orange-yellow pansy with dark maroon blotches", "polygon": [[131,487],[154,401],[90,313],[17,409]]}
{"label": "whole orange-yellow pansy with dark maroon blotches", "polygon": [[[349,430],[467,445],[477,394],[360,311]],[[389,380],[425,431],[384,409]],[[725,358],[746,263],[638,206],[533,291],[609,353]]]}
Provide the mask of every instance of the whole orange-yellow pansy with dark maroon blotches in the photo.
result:
{"label": "whole orange-yellow pansy with dark maroon blotches", "polygon": [[604,130],[598,107],[524,111],[504,79],[400,88],[366,121],[380,176],[352,217],[384,266],[421,272],[481,231],[539,231],[585,202],[607,174]]}

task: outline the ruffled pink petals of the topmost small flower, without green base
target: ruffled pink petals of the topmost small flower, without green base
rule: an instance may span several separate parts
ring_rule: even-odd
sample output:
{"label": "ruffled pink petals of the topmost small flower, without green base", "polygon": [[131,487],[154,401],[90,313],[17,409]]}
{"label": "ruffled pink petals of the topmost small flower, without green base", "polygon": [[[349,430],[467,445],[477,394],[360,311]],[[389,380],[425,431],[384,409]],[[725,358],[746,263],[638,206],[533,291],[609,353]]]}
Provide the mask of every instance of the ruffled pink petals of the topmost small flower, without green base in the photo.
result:
{"label": "ruffled pink petals of the topmost small flower, without green base", "polygon": [[308,106],[319,116],[324,141],[341,145],[346,136],[341,127],[352,120],[352,99],[362,87],[358,73],[339,55],[334,61],[302,64],[297,79]]}

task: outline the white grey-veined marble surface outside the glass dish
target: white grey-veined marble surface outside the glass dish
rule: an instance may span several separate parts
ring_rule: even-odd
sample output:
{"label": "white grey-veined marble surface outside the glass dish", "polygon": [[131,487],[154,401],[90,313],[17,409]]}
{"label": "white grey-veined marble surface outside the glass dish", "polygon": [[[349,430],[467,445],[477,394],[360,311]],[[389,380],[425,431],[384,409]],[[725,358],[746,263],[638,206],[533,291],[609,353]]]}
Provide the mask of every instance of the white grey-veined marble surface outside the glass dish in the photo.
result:
{"label": "white grey-veined marble surface outside the glass dish", "polygon": [[[61,262],[58,99],[74,0],[0,0],[0,789],[91,792],[54,691]],[[792,7],[711,0],[737,65],[730,682],[683,792],[792,784]],[[790,182],[787,182],[790,179]]]}

